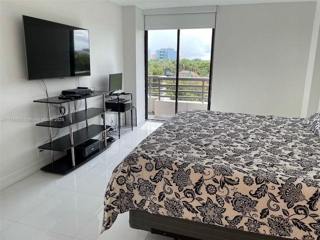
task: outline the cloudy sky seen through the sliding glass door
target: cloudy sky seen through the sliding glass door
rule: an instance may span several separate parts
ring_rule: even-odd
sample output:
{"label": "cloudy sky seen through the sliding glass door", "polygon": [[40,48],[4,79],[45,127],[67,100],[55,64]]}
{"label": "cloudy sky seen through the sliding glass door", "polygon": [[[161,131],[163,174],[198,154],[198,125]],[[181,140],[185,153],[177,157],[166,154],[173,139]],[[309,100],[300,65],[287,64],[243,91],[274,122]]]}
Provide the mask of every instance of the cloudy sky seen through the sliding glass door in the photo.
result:
{"label": "cloudy sky seen through the sliding glass door", "polygon": [[[180,29],[180,54],[185,58],[210,59],[212,29]],[[148,48],[151,54],[160,48],[177,45],[177,30],[148,30]]]}

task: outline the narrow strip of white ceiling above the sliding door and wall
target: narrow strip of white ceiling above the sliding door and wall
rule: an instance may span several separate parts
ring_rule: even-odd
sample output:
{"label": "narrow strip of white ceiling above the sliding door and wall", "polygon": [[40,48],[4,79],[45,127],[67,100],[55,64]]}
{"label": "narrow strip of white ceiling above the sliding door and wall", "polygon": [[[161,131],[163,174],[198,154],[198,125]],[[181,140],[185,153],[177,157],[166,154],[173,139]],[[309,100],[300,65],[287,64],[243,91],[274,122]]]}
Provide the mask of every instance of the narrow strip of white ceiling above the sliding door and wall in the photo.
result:
{"label": "narrow strip of white ceiling above the sliding door and wall", "polygon": [[141,9],[180,7],[180,6],[206,6],[206,5],[233,5],[267,2],[297,2],[320,0],[110,0],[120,6],[137,6]]}

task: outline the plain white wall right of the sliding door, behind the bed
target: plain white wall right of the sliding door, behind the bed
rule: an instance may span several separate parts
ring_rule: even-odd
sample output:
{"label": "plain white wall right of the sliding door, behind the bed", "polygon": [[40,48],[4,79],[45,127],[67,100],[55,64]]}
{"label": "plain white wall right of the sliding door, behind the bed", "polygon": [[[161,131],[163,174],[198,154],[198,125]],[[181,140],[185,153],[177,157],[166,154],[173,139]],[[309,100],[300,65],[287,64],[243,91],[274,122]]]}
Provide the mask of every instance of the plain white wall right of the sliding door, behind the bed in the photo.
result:
{"label": "plain white wall right of the sliding door, behind the bed", "polygon": [[212,110],[300,116],[315,4],[218,6]]}

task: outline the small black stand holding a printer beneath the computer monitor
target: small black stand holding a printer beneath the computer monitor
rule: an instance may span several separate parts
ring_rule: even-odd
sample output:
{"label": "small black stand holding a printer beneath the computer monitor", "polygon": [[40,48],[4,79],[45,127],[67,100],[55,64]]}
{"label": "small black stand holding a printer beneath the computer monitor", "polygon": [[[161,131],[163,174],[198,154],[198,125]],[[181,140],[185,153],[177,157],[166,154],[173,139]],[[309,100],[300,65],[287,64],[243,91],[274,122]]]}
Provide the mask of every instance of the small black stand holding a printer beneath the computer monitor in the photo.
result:
{"label": "small black stand holding a printer beneath the computer monitor", "polygon": [[[132,106],[132,93],[117,93],[106,96],[105,107],[111,108],[111,110],[106,113],[117,114],[118,117],[118,128],[116,131],[113,130],[109,132],[110,135],[114,135],[114,133],[117,132],[117,135],[120,138],[121,134],[129,131],[130,129],[131,131],[133,130],[132,110],[135,109],[135,107]],[[126,112],[128,111],[131,113],[131,125],[126,125]],[[124,113],[124,126],[121,126],[121,113]]]}

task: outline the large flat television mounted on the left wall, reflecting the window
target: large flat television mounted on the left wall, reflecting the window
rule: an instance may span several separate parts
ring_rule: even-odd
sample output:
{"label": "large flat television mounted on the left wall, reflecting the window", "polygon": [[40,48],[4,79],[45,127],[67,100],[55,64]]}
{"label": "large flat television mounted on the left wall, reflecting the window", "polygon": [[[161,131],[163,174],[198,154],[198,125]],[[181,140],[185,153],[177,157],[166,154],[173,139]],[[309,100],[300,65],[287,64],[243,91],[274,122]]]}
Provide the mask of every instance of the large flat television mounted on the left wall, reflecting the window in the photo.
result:
{"label": "large flat television mounted on the left wall, reflecting the window", "polygon": [[90,75],[89,31],[22,15],[27,79]]}

